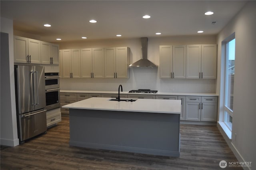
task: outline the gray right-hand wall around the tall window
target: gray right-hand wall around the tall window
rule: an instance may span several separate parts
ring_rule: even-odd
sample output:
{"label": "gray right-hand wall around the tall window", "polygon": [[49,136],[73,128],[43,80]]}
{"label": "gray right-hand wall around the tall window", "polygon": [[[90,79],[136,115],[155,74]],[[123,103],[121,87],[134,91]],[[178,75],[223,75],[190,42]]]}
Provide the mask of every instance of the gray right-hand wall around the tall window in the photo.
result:
{"label": "gray right-hand wall around the tall window", "polygon": [[[255,111],[255,64],[256,64],[256,1],[249,1],[244,8],[218,34],[218,79],[220,94],[220,118],[224,106],[224,66],[222,41],[235,32],[236,60],[234,78],[234,116],[231,146],[240,160],[252,162],[256,168],[256,111]],[[235,135],[236,134],[236,135]]]}

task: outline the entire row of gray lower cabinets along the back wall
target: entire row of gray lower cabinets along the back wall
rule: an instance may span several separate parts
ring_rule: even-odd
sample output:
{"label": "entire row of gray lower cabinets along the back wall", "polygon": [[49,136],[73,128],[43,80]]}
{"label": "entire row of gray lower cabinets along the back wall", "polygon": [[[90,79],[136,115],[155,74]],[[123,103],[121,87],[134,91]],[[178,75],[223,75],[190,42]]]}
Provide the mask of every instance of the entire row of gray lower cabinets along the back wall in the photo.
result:
{"label": "entire row of gray lower cabinets along the back wall", "polygon": [[[118,94],[100,93],[60,93],[60,105],[64,106],[73,102],[91,97],[116,98]],[[218,97],[215,96],[172,96],[172,95],[147,95],[147,94],[120,94],[120,98],[146,98],[181,100],[180,120],[189,121],[217,121]],[[61,108],[63,115],[68,115],[69,110]]]}

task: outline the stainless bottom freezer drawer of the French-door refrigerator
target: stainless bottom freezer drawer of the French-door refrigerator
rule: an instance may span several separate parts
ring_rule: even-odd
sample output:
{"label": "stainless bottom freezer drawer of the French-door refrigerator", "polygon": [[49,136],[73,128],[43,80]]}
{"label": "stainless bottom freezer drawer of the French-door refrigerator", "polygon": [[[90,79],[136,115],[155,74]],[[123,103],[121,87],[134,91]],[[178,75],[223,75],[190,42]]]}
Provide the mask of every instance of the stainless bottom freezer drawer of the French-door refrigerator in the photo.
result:
{"label": "stainless bottom freezer drawer of the French-door refrigerator", "polygon": [[20,141],[46,132],[46,110],[19,115]]}

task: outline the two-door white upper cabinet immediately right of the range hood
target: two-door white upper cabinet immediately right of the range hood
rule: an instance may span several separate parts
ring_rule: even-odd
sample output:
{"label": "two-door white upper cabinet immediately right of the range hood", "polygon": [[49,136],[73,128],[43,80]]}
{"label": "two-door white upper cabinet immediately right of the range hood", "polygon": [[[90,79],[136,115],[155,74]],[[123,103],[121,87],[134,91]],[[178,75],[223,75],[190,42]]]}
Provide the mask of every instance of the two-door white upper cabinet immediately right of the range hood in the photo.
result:
{"label": "two-door white upper cabinet immediately right of the range hood", "polygon": [[186,78],[186,45],[160,46],[160,78]]}

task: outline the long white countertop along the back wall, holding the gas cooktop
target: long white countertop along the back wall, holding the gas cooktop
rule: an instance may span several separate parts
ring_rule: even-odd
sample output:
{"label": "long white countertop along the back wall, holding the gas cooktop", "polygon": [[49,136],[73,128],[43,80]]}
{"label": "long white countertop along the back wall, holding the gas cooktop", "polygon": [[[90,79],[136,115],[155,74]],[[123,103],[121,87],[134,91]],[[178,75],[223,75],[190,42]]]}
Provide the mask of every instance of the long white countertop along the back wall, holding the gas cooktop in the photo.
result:
{"label": "long white countertop along the back wall, holding the gas cooktop", "polygon": [[[97,93],[97,94],[118,94],[118,91],[90,91],[90,90],[60,90],[63,93]],[[137,95],[170,95],[170,96],[219,96],[216,93],[172,93],[172,92],[157,92],[157,93],[129,93],[120,92],[120,94],[137,94]]]}

